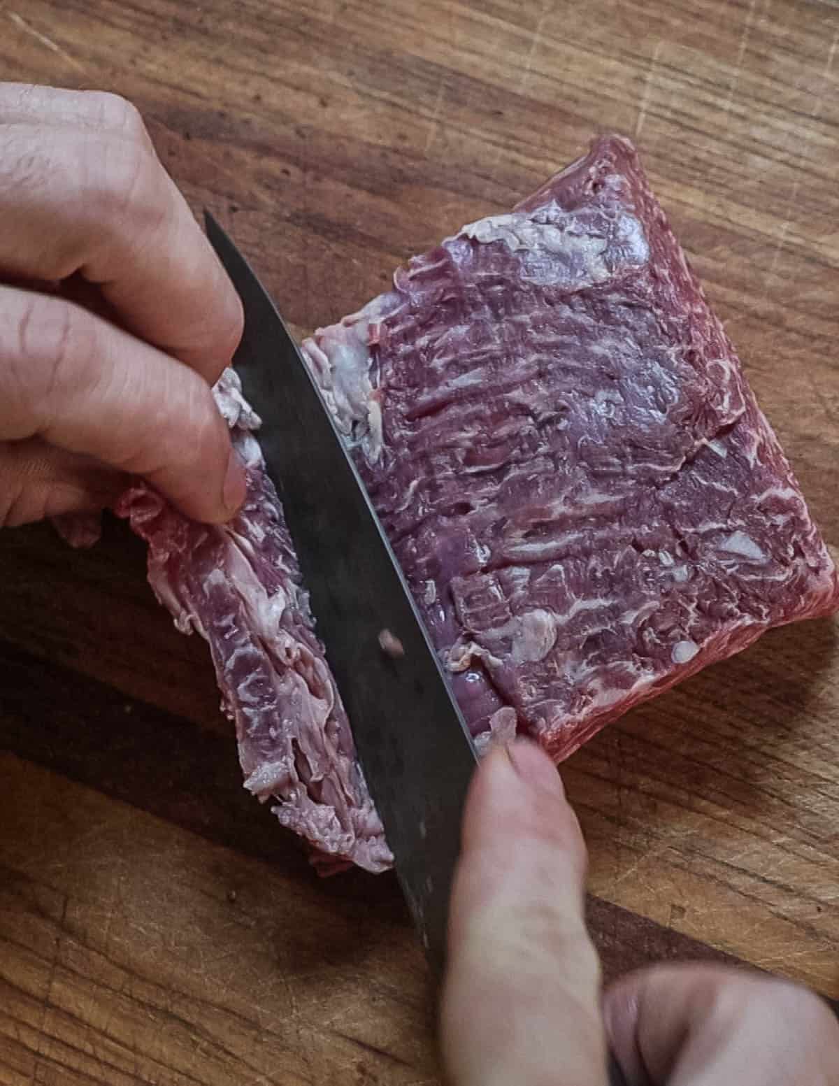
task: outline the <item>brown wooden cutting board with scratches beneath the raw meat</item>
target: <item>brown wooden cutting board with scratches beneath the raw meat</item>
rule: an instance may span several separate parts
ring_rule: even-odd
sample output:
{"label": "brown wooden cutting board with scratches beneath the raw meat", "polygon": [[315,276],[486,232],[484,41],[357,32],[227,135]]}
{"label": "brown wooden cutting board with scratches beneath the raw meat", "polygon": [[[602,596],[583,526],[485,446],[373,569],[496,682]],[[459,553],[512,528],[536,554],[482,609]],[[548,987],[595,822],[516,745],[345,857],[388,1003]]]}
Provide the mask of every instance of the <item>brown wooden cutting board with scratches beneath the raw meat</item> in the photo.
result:
{"label": "brown wooden cutting board with scratches beneath the raw meat", "polygon": [[[297,331],[633,136],[835,545],[837,42],[829,0],[0,0],[2,77],[130,97]],[[437,1083],[394,880],[317,880],[244,793],[142,546],[3,531],[0,571],[0,1084]],[[608,975],[725,952],[839,996],[838,633],[568,762]]]}

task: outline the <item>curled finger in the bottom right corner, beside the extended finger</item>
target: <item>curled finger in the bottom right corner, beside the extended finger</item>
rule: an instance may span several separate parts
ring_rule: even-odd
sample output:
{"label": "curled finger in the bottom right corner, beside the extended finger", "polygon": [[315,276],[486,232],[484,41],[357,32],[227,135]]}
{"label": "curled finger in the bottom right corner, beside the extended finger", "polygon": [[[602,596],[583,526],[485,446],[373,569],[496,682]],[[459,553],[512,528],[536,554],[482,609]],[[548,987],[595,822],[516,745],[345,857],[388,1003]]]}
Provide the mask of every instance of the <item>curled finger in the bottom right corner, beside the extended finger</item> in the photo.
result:
{"label": "curled finger in the bottom right corner, beside the extended finger", "polygon": [[839,1082],[839,1025],[805,988],[723,965],[657,965],[606,994],[621,1066],[638,1086]]}

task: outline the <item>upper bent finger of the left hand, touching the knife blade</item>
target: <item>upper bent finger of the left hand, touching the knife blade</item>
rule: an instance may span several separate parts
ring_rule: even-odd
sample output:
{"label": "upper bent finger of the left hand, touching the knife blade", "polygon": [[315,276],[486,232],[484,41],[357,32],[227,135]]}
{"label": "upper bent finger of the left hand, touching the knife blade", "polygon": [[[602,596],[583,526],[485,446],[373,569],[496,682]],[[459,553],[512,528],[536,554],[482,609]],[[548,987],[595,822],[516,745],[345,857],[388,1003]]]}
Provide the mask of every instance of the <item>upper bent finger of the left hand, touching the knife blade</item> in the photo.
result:
{"label": "upper bent finger of the left hand, touching the knife blade", "polygon": [[139,114],[128,102],[118,109],[120,138],[92,127],[0,128],[0,270],[46,280],[80,273],[125,327],[212,383],[241,338],[241,302]]}

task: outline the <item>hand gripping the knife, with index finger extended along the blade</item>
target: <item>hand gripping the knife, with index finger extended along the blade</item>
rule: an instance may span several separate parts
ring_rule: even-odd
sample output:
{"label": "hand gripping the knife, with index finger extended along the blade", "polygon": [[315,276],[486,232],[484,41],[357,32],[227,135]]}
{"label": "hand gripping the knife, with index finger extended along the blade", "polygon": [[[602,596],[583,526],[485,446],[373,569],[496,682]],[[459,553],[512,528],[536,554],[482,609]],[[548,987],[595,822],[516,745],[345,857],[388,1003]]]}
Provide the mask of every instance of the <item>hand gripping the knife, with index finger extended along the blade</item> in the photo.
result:
{"label": "hand gripping the knife, with index finger extended along the blade", "polygon": [[492,752],[473,782],[441,1008],[453,1086],[835,1086],[839,1025],[804,988],[727,967],[657,965],[601,1002],[583,918],[586,850],[538,747]]}

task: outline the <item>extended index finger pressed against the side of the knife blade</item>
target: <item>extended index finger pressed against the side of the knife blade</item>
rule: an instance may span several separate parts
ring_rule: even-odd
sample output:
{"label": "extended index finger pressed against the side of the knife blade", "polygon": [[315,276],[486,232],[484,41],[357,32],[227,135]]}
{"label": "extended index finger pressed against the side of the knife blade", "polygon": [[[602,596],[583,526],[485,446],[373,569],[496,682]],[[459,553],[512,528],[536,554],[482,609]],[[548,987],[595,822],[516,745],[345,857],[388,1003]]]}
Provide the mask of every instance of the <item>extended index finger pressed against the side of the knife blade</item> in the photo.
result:
{"label": "extended index finger pressed against the side of the knife blade", "polygon": [[479,768],[452,897],[442,1045],[456,1086],[602,1086],[586,854],[559,774],[518,741]]}

